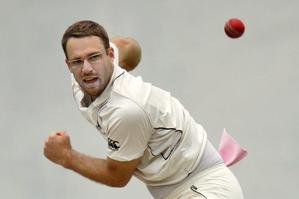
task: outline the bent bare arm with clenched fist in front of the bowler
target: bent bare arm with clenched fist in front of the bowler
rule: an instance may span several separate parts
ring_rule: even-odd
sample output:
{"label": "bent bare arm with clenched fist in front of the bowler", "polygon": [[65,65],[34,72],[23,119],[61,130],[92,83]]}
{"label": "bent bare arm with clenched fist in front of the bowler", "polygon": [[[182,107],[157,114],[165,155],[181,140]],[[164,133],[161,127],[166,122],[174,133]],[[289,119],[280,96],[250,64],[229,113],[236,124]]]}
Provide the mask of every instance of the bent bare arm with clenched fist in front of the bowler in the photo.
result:
{"label": "bent bare arm with clenched fist in front of the bowler", "polygon": [[140,162],[140,158],[121,162],[110,158],[89,157],[72,149],[70,138],[65,132],[49,135],[44,155],[56,164],[112,187],[125,186]]}

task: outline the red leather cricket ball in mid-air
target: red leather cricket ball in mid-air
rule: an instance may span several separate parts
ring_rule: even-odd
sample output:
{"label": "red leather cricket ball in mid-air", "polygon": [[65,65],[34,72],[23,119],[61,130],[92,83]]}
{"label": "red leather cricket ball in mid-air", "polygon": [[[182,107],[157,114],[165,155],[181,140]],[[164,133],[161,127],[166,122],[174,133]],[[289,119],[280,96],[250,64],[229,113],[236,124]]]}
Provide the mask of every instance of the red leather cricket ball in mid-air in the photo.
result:
{"label": "red leather cricket ball in mid-air", "polygon": [[245,31],[244,23],[238,18],[231,18],[225,22],[224,31],[230,38],[241,37]]}

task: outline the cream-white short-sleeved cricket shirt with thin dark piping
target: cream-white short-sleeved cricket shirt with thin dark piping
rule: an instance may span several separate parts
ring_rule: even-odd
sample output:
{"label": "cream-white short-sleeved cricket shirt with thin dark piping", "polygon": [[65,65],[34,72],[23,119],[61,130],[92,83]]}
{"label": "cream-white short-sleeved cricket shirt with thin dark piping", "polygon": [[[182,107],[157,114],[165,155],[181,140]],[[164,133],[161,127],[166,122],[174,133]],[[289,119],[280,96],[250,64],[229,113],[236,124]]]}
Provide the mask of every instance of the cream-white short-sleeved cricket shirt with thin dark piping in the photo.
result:
{"label": "cream-white short-sleeved cricket shirt with thin dark piping", "polygon": [[107,139],[108,157],[129,161],[142,156],[135,176],[147,185],[177,183],[197,166],[206,132],[169,92],[117,65],[106,89],[88,107],[74,78],[72,87],[80,112]]}

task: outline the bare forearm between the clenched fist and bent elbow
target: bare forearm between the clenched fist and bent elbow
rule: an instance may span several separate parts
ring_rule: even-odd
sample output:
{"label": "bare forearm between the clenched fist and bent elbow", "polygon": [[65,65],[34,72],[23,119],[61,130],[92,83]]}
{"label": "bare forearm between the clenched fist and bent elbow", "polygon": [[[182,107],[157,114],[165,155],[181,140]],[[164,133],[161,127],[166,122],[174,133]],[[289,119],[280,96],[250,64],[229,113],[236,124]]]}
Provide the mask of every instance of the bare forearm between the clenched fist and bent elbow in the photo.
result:
{"label": "bare forearm between the clenched fist and bent elbow", "polygon": [[115,175],[117,171],[113,171],[113,168],[108,167],[106,159],[89,157],[75,150],[71,150],[70,157],[64,167],[108,186],[121,187],[125,185]]}

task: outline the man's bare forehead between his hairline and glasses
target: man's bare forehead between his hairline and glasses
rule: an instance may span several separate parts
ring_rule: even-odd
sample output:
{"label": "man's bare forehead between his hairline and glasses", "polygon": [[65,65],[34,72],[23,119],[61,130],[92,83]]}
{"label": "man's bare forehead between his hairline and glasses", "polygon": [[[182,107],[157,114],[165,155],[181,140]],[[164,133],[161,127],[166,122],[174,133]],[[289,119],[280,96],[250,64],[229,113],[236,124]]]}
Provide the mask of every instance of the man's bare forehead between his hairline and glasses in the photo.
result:
{"label": "man's bare forehead between his hairline and glasses", "polygon": [[96,36],[71,37],[66,43],[68,58],[84,57],[95,52],[104,52],[105,47],[101,38]]}

